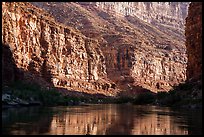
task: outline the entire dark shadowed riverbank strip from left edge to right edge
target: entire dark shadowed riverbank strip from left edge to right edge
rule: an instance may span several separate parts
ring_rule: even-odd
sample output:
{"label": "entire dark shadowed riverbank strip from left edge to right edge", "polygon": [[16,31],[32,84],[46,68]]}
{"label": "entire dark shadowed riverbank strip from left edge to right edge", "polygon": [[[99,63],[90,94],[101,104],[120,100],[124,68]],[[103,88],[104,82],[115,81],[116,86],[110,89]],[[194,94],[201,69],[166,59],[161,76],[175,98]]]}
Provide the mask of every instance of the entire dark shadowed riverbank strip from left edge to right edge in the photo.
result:
{"label": "entire dark shadowed riverbank strip from left edge to right edge", "polygon": [[[68,93],[68,94],[67,94]],[[70,94],[69,94],[70,93]],[[44,89],[36,84],[22,81],[3,87],[2,108],[30,107],[30,106],[73,106],[87,104],[132,104],[132,105],[157,105],[173,108],[201,109],[202,108],[202,83],[191,81],[174,87],[169,92],[143,92],[134,96],[109,97],[100,94],[71,94],[73,91],[62,89]]]}

